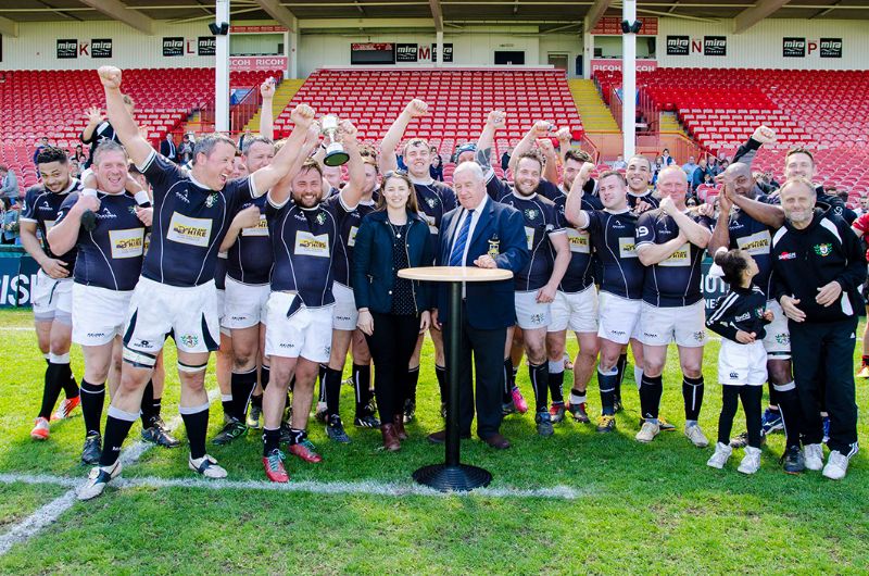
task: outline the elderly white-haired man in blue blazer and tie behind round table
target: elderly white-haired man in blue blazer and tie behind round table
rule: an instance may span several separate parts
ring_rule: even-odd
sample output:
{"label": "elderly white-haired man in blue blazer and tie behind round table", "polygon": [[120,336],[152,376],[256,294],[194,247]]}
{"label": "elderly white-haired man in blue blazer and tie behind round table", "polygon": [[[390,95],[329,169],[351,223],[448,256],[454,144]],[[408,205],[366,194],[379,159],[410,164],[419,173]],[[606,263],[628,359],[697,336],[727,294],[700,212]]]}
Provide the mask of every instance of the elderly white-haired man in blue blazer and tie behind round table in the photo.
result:
{"label": "elderly white-haired man in blue blazer and tie behind round table", "polygon": [[[530,259],[521,214],[514,208],[494,202],[486,193],[483,172],[475,162],[463,162],[453,173],[453,188],[459,206],[446,213],[441,223],[438,265],[504,268],[514,274]],[[507,328],[516,323],[513,279],[493,283],[468,283],[463,288],[462,331],[458,365],[459,434],[470,437],[476,404],[477,436],[498,449],[509,448],[501,427],[501,398],[504,390],[504,343]],[[445,285],[438,292],[438,310],[432,323],[449,317]],[[444,333],[449,340],[449,330]],[[449,342],[448,342],[449,347]],[[477,373],[476,402],[471,387],[471,354]],[[453,366],[448,366],[452,370]],[[443,442],[445,433],[429,436]]]}

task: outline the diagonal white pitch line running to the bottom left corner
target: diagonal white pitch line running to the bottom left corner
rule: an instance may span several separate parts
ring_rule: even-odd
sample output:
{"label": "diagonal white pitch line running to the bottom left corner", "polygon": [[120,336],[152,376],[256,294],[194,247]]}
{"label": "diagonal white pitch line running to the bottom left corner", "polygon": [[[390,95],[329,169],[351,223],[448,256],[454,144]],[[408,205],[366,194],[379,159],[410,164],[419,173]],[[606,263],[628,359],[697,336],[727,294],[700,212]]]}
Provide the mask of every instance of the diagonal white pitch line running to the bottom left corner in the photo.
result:
{"label": "diagonal white pitch line running to the bottom left corner", "polygon": [[[219,393],[217,390],[209,392],[209,403],[213,402]],[[169,431],[174,430],[181,424],[181,416],[178,414],[172,418],[167,425]],[[121,455],[121,462],[124,465],[129,465],[139,460],[142,454],[153,448],[154,444],[139,440],[134,442]],[[11,484],[21,481],[25,484],[51,484],[54,486],[63,486],[71,488],[63,496],[60,496],[43,505],[26,518],[12,525],[12,527],[3,535],[0,535],[0,556],[9,552],[9,550],[16,543],[24,542],[29,538],[36,536],[42,528],[50,525],[58,519],[61,514],[73,508],[76,503],[76,488],[83,484],[81,478],[63,478],[56,476],[46,475],[16,475],[16,474],[0,474],[0,483]]]}

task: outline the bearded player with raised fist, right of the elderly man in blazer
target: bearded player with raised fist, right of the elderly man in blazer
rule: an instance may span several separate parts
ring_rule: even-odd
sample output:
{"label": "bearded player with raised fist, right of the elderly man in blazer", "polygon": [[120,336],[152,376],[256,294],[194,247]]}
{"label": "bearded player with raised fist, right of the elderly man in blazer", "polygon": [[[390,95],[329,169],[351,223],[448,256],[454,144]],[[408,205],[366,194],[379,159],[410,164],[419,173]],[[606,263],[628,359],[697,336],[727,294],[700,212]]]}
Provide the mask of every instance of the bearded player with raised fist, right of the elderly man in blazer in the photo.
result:
{"label": "bearded player with raised fist, right of the elderly man in blazer", "polygon": [[[534,390],[534,422],[538,434],[552,436],[552,418],[547,401],[550,368],[546,359],[546,328],[552,321],[551,303],[570,264],[570,247],[567,230],[559,224],[555,203],[538,193],[543,181],[541,180],[543,159],[538,152],[521,151],[519,146],[516,147],[519,152],[514,153],[511,159],[511,161],[516,160],[514,188],[495,176],[489,163],[489,155],[495,130],[504,125],[504,118],[503,112],[500,111],[489,114],[478,140],[481,153],[477,154],[477,158],[486,172],[486,188],[489,196],[519,211],[525,221],[531,259],[515,276],[516,318],[518,327],[522,330],[522,343],[528,355],[528,372]],[[532,130],[537,130],[542,124],[545,123],[536,123]],[[513,372],[512,330],[513,328],[507,330],[505,342],[505,375]],[[563,361],[562,371],[564,371]],[[513,402],[512,393],[507,396],[508,393],[505,387],[504,403]]]}

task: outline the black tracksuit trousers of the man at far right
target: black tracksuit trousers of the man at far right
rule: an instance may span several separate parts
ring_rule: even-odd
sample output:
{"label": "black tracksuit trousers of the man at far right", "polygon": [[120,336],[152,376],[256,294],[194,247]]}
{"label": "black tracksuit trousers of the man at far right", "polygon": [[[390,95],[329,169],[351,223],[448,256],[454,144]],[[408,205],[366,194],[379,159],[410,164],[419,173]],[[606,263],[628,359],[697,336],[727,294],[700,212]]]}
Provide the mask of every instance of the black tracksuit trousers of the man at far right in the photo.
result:
{"label": "black tracksuit trousers of the man at far right", "polygon": [[857,317],[839,322],[793,322],[791,356],[803,416],[803,443],[823,439],[820,411],[830,414],[830,450],[848,455],[857,442],[854,345]]}

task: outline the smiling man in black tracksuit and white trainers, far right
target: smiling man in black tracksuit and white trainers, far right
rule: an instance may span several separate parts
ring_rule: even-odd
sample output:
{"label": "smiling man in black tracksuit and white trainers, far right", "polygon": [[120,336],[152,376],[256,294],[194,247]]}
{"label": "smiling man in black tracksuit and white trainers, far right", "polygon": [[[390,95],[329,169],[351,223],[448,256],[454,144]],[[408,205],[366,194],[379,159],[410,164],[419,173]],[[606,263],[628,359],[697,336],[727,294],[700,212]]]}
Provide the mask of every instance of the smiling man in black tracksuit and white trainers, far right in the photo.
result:
{"label": "smiling man in black tracksuit and white trainers, far right", "polygon": [[792,178],[782,186],[786,221],[772,238],[771,255],[777,300],[790,321],[806,467],[822,465],[823,405],[830,414],[823,475],[841,479],[857,453],[853,355],[866,258],[845,221],[815,202],[809,180]]}

